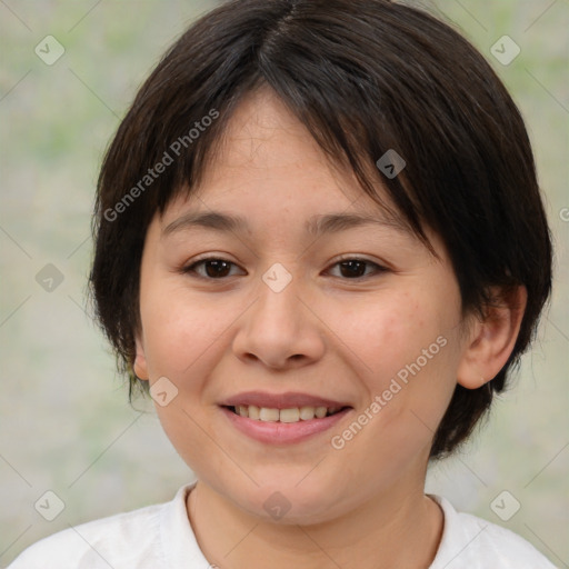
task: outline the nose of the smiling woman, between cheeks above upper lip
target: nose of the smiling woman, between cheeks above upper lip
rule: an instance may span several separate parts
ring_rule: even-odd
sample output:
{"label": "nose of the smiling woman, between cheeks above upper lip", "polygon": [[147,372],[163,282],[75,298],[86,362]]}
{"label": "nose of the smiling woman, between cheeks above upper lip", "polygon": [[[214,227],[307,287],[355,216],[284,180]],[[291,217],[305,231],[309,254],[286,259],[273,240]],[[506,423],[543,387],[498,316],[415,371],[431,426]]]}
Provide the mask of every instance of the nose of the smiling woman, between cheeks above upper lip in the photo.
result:
{"label": "nose of the smiling woman, between cheeks above upper lip", "polygon": [[295,279],[280,292],[264,282],[240,319],[234,355],[271,369],[296,369],[319,360],[325,351],[325,325]]}

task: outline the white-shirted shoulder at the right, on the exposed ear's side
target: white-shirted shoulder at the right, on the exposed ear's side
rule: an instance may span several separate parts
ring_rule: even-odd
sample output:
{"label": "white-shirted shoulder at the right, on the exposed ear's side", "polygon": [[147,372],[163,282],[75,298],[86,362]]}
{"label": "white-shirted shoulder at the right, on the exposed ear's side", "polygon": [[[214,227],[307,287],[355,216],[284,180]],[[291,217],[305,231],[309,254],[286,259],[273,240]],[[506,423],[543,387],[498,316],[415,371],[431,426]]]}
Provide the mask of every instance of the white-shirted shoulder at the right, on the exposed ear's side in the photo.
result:
{"label": "white-shirted shoulder at the right, on the exposed ear's side", "polygon": [[445,529],[430,569],[556,569],[513,531],[458,512],[446,498],[432,495],[431,498],[445,512]]}

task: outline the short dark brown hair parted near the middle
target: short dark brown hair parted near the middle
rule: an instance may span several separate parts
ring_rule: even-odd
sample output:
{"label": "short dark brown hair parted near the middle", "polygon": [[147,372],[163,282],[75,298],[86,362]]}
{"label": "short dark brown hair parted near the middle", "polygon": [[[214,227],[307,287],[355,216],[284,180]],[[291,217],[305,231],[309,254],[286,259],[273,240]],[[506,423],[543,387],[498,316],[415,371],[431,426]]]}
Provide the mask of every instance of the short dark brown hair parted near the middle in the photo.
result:
{"label": "short dark brown hair parted near the middle", "polygon": [[[430,457],[450,453],[535,337],[551,291],[551,237],[523,120],[495,71],[447,23],[387,0],[226,2],[176,41],[139,90],[101,167],[90,274],[129,399],[148,390],[132,370],[148,226],[174,197],[191,196],[236,107],[261,87],[386,206],[379,181],[427,247],[426,227],[440,236],[463,316],[483,315],[493,287],[527,288],[506,366],[478,389],[457,385],[433,435]],[[200,124],[209,126],[196,137]],[[407,162],[397,177],[375,167],[388,150]],[[168,166],[150,174],[159,163]]]}

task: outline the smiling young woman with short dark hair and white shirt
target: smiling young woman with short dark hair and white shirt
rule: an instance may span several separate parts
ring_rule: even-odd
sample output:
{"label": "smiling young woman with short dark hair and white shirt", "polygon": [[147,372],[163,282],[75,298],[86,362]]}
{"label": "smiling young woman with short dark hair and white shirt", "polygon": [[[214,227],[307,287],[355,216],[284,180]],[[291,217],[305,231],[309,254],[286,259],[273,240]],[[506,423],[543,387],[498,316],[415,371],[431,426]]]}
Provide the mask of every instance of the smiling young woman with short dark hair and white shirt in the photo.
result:
{"label": "smiling young woman with short dark hair and white shirt", "polygon": [[553,567],[425,493],[532,338],[551,244],[485,59],[387,0],[236,0],[104,159],[93,299],[197,477],[19,568]]}

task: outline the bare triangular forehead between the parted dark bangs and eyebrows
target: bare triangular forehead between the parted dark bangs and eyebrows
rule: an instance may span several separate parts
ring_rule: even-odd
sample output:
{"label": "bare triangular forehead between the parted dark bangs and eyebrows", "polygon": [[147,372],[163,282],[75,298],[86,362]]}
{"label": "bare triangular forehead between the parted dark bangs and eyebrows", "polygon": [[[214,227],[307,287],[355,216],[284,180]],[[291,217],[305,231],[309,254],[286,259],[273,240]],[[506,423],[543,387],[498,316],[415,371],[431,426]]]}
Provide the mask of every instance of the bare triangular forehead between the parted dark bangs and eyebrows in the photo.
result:
{"label": "bare triangular forehead between the parted dark bangs and eyebrows", "polygon": [[[370,220],[410,232],[401,216],[393,214],[379,181],[376,191],[389,209],[365,192],[350,168],[319,147],[271,90],[261,89],[237,107],[209,154],[199,184],[172,200],[162,227],[171,230],[172,217],[191,209],[193,221],[198,212],[199,221],[204,221],[198,224],[230,230],[244,229],[247,217],[289,212],[302,217],[310,233]],[[224,213],[204,219],[212,210]]]}

